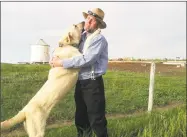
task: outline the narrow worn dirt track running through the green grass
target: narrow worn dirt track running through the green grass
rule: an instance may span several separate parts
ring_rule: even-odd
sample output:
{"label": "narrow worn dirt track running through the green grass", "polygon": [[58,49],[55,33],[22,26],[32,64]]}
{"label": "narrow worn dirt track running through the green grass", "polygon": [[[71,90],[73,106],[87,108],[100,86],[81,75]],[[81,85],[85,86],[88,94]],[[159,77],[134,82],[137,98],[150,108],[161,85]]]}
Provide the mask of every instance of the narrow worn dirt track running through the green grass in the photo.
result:
{"label": "narrow worn dirt track running through the green grass", "polygon": [[[166,110],[176,108],[176,107],[179,107],[179,106],[184,106],[184,105],[185,105],[184,103],[170,103],[169,105],[166,105],[166,106],[163,106],[163,107],[154,106],[153,109],[154,109],[154,111],[166,111]],[[134,113],[131,113],[131,114],[122,114],[122,113],[121,114],[109,114],[109,115],[106,115],[106,117],[107,117],[107,119],[116,119],[116,118],[140,116],[140,115],[143,115],[143,114],[146,114],[146,113],[147,113],[146,111],[137,110],[137,111],[135,111]],[[47,129],[61,128],[61,127],[70,126],[70,125],[73,125],[73,124],[74,124],[74,121],[70,121],[70,120],[58,121],[54,124],[48,125],[46,128]],[[21,137],[21,136],[26,136],[26,132],[22,128],[16,129],[16,130],[11,131],[9,133],[7,133],[7,132],[1,133],[1,137]]]}

